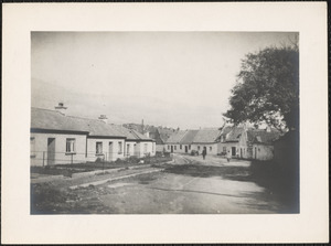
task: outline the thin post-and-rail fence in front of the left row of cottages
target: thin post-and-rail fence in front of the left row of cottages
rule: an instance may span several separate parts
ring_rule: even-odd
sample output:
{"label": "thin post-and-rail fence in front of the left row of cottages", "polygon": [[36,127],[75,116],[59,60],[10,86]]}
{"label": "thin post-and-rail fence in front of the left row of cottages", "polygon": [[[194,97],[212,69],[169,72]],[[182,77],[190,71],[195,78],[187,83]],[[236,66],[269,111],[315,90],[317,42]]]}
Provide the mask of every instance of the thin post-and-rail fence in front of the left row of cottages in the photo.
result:
{"label": "thin post-and-rail fence in front of the left row of cottages", "polygon": [[74,164],[82,162],[111,162],[117,159],[146,158],[153,156],[151,152],[53,152],[33,151],[30,153],[31,165]]}

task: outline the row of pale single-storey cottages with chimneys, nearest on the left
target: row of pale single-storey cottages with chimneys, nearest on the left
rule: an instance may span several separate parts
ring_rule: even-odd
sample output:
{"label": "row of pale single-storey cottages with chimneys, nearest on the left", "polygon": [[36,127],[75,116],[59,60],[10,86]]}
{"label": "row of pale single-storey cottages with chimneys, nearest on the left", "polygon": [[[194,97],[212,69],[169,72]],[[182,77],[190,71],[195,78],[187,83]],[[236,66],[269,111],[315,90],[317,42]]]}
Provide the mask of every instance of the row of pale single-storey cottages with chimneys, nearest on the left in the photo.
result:
{"label": "row of pale single-storey cottages with chimneys, nearest on the left", "polygon": [[98,119],[66,116],[56,110],[31,108],[31,165],[115,161],[156,154],[156,141],[140,132]]}

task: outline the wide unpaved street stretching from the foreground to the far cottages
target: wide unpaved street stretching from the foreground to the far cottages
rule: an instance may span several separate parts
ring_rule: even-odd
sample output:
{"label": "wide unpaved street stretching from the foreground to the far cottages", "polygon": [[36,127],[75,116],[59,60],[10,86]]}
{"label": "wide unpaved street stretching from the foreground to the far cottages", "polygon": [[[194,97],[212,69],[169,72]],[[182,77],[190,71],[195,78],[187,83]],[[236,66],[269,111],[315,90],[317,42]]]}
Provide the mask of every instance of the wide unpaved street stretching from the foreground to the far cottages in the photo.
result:
{"label": "wide unpaved street stretching from the foreground to the far cottages", "polygon": [[173,158],[170,164],[152,168],[160,169],[159,172],[75,190],[56,183],[54,189],[62,189],[58,195],[63,200],[47,204],[40,213],[263,214],[287,211],[278,194],[250,179],[249,161],[227,163],[223,158],[209,156],[206,160],[180,154]]}

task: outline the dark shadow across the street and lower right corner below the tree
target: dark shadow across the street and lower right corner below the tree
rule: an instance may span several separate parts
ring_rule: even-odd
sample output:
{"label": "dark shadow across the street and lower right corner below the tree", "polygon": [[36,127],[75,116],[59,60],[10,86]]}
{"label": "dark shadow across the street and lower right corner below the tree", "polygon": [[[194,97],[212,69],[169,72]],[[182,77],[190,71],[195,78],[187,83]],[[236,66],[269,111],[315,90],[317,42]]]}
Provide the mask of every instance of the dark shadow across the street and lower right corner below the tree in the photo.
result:
{"label": "dark shadow across the street and lower right corner below the tree", "polygon": [[[245,205],[270,208],[269,206],[278,203],[280,204],[277,208],[278,213],[299,213],[298,171],[280,170],[273,162],[255,161],[249,167],[177,164],[167,167],[164,172],[197,178],[220,177],[233,181],[254,182],[264,188],[265,192],[247,194],[248,197],[252,197],[252,203]],[[255,197],[263,202],[256,204]]]}

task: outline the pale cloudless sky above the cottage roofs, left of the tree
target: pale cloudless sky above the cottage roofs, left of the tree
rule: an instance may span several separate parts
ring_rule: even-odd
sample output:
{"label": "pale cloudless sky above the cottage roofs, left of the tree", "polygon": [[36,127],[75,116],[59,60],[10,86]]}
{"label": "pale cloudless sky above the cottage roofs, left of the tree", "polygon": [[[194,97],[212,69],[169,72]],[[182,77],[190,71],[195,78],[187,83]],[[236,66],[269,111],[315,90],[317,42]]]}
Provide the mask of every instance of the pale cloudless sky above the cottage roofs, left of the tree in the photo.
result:
{"label": "pale cloudless sky above the cottage roofs, left of the tree", "polygon": [[290,32],[32,32],[31,106],[109,122],[221,127],[247,53]]}

